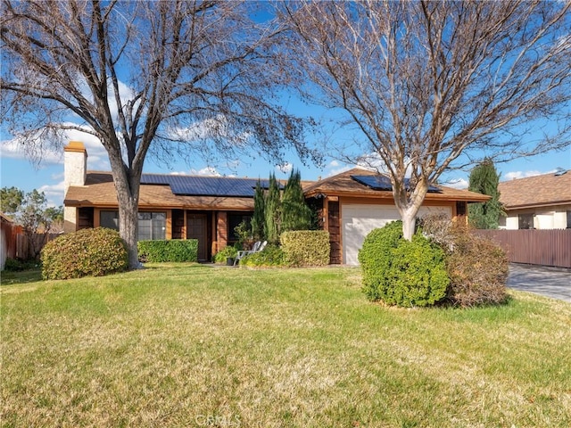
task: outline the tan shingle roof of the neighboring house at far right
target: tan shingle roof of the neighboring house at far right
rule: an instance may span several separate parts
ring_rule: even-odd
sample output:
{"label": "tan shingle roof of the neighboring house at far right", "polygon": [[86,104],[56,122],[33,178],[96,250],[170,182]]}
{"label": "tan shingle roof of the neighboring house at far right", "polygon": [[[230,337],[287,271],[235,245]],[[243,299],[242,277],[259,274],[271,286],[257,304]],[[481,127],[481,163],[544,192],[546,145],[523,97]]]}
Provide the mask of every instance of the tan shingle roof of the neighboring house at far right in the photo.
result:
{"label": "tan shingle roof of the neighboring house at far right", "polygon": [[571,203],[571,171],[502,181],[498,190],[508,209]]}

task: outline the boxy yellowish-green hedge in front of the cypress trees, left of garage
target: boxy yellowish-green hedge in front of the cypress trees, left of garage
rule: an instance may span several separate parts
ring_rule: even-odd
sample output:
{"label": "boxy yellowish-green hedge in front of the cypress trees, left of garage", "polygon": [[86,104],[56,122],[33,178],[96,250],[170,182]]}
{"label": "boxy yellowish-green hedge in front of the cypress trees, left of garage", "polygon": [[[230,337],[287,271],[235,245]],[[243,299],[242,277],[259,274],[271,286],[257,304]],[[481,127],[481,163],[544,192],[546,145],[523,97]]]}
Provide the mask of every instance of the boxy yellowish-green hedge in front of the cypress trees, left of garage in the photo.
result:
{"label": "boxy yellowish-green hedge in front of the cypress trees, left of garage", "polygon": [[286,261],[292,266],[327,266],[329,232],[326,230],[292,230],[280,236]]}

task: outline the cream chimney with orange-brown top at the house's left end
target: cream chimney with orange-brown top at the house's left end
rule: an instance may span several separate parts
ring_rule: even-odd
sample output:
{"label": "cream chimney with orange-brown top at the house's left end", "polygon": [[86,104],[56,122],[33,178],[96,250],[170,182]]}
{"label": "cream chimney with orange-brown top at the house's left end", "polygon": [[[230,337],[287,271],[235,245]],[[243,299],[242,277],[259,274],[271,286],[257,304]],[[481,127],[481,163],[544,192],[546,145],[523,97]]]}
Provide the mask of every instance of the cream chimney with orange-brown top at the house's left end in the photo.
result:
{"label": "cream chimney with orange-brown top at the house's left end", "polygon": [[[68,193],[70,185],[85,185],[87,178],[87,151],[83,143],[70,141],[70,144],[63,148],[63,184],[65,194]],[[75,207],[64,207],[63,209],[63,232],[75,232],[78,218]]]}

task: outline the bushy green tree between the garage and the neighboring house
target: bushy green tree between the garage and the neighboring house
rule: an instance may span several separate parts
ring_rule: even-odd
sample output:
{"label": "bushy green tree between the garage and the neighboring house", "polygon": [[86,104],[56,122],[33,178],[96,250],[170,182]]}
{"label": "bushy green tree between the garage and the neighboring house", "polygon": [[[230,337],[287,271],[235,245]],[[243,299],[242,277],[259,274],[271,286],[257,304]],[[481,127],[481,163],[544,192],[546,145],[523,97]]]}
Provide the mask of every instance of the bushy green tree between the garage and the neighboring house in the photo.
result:
{"label": "bushy green tree between the garage and the neighboring house", "polygon": [[498,228],[498,221],[503,215],[498,183],[500,183],[500,175],[489,158],[485,158],[470,172],[468,190],[492,196],[488,202],[470,203],[468,205],[470,224],[477,229]]}

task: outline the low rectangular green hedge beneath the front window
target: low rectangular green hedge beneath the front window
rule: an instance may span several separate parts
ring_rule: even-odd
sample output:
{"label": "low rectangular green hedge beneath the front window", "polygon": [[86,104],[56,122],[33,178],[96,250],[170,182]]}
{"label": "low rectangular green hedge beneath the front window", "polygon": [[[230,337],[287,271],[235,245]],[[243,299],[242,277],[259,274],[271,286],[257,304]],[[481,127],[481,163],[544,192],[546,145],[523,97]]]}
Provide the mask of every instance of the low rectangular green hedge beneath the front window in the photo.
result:
{"label": "low rectangular green hedge beneath the front window", "polygon": [[139,241],[137,250],[142,262],[198,261],[197,239]]}

